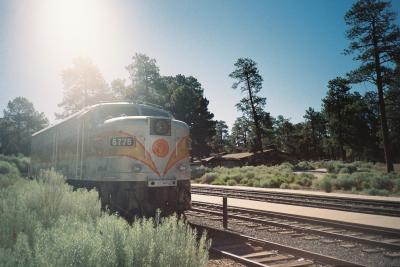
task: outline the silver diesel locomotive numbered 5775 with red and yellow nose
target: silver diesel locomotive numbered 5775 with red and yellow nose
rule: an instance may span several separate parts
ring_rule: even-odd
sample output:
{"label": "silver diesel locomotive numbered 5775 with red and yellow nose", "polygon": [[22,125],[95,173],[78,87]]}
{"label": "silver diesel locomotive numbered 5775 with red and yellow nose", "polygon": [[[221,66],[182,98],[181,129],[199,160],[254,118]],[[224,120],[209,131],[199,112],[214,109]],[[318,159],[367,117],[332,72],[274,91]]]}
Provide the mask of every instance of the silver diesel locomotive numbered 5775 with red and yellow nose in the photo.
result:
{"label": "silver diesel locomotive numbered 5775 with red and yellow nose", "polygon": [[126,218],[191,206],[189,127],[139,103],[102,103],[32,135],[31,173],[54,168]]}

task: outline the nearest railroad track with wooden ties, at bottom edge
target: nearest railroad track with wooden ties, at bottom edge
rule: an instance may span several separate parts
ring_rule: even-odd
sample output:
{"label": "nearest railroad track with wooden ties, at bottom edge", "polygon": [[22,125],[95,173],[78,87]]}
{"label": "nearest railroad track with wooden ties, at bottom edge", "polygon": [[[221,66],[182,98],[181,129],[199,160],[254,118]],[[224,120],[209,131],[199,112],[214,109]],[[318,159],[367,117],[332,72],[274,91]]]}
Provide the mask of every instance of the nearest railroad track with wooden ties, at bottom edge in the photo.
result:
{"label": "nearest railroad track with wooden ties, at bottom edge", "polygon": [[246,266],[363,266],[229,230],[220,230],[193,223],[191,225],[197,228],[199,232],[207,231],[207,235],[212,238],[211,253],[231,258]]}

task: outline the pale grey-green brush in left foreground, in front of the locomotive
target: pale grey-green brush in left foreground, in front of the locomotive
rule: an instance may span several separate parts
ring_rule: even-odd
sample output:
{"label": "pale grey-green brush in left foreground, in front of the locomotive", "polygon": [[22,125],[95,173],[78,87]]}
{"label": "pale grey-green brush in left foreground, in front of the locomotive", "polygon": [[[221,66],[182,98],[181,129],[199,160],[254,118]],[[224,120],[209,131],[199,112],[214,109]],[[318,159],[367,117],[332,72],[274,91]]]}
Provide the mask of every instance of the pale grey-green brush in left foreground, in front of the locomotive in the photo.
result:
{"label": "pale grey-green brush in left foreground, in front of the locomotive", "polygon": [[210,243],[175,217],[129,225],[53,171],[0,189],[0,266],[205,266]]}

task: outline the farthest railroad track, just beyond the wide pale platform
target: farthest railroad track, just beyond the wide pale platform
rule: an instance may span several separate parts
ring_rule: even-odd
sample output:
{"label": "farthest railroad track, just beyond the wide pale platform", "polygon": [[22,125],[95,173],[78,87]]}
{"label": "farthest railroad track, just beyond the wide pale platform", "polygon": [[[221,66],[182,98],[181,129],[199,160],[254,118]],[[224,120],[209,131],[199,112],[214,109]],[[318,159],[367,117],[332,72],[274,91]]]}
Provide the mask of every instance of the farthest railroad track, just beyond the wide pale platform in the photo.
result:
{"label": "farthest railroad track, just beyond the wide pale platform", "polygon": [[192,194],[211,196],[225,195],[231,198],[400,217],[400,201],[316,196],[196,185],[192,185]]}

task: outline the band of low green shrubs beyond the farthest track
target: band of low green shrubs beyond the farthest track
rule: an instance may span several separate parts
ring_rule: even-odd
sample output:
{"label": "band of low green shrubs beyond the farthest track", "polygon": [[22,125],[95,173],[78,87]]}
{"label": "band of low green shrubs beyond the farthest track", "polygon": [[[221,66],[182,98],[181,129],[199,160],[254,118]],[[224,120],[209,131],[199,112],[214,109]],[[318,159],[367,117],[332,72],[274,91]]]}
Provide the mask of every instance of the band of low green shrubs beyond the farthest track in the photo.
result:
{"label": "band of low green shrubs beyond the farthest track", "polygon": [[[362,192],[365,189],[385,189],[391,193],[400,191],[400,174],[386,174],[382,164],[374,165],[368,162],[345,163],[342,161],[302,161],[296,165],[283,163],[276,166],[245,166],[235,168],[216,167],[203,175],[202,180],[209,180],[211,184],[224,185],[229,180],[235,180],[237,184],[268,187],[268,188],[308,188],[314,187],[326,190],[345,190]],[[328,182],[316,179],[312,174],[296,174],[293,170],[306,170],[315,168],[327,168],[329,173],[325,176]],[[233,184],[232,182],[230,182]],[[294,186],[296,184],[296,186]],[[330,188],[328,188],[330,187]],[[328,189],[326,189],[328,188]]]}

